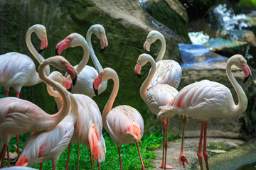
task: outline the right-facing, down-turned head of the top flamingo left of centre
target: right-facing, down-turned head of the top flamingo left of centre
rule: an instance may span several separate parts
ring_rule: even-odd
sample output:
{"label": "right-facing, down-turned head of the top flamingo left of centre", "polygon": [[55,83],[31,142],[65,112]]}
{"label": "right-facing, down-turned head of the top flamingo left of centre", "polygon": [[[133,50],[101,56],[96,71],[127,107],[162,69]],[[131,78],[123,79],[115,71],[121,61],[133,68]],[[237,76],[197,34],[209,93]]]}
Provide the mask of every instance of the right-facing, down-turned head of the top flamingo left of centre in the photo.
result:
{"label": "right-facing, down-turned head of the top flamingo left of centre", "polygon": [[100,53],[104,52],[108,45],[107,36],[106,36],[104,27],[100,24],[95,24],[95,25],[91,26],[90,29],[92,29],[92,31],[93,31],[93,33],[95,33],[96,37],[100,39],[100,45],[101,45]]}

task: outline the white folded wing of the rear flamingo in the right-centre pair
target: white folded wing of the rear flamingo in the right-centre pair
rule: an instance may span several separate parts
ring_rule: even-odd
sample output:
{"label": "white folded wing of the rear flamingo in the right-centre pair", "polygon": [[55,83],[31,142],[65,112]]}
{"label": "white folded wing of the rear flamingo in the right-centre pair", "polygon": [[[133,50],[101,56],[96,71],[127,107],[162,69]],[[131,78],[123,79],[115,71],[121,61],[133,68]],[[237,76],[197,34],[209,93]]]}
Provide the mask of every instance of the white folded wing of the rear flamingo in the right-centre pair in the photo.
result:
{"label": "white folded wing of the rear flamingo in the right-centre pair", "polygon": [[181,81],[181,66],[174,60],[160,60],[156,62],[156,73],[152,78],[149,88],[156,84],[169,84],[175,89]]}

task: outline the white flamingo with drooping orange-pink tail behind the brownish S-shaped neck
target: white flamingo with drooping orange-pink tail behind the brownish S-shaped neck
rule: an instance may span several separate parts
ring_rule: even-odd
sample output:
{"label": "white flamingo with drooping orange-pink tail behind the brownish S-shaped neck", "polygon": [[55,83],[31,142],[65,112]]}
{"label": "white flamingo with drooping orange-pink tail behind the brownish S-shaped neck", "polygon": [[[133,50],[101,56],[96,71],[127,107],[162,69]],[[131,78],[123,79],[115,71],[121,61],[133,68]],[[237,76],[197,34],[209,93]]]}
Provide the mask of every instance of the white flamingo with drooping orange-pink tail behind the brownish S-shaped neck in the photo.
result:
{"label": "white flamingo with drooping orange-pink tail behind the brownish S-shaped neck", "polygon": [[[55,97],[55,101],[57,103],[58,108],[62,105],[62,99],[58,94],[53,91],[50,86],[47,86],[48,93],[51,96]],[[78,119],[75,123],[75,130],[72,137],[71,142],[81,142],[82,145],[86,145],[90,149],[90,158],[91,158],[91,169],[93,169],[93,164],[96,160],[98,160],[98,166],[100,169],[100,162],[105,161],[105,140],[102,135],[102,116],[100,113],[100,109],[92,100],[92,98],[85,96],[84,94],[73,94],[73,96],[78,101]],[[70,154],[71,142],[68,147],[68,159],[67,166],[68,169],[68,161]],[[92,154],[93,162],[92,162]],[[78,169],[79,169],[79,150],[78,150]]]}

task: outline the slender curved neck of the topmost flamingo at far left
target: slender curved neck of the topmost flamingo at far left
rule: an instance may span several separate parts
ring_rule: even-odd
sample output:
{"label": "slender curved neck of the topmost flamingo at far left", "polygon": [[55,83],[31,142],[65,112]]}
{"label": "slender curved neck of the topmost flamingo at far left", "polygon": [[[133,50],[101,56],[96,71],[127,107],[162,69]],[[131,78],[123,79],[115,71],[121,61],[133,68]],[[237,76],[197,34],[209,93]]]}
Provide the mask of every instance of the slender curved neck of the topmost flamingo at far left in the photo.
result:
{"label": "slender curved neck of the topmost flamingo at far left", "polygon": [[[33,55],[33,57],[35,57],[36,60],[39,62],[39,64],[41,64],[41,62],[45,61],[45,59],[36,51],[35,47],[33,47],[33,44],[31,42],[31,34],[33,32],[35,32],[35,30],[33,30],[33,27],[28,29],[28,31],[26,33],[26,45],[28,47],[28,50]],[[47,75],[50,74],[50,67],[49,66],[46,67],[46,74]]]}

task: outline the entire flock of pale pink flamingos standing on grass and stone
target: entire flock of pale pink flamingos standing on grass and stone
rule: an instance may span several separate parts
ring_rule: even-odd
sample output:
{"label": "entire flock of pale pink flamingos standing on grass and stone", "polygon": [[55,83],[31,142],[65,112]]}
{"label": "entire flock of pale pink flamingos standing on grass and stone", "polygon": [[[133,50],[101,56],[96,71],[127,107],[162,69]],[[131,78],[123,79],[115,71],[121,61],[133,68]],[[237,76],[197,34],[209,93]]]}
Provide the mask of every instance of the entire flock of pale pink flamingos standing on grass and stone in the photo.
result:
{"label": "entire flock of pale pink flamingos standing on grass and stone", "polygon": [[[32,33],[36,33],[41,40],[39,52],[32,45]],[[100,162],[105,161],[106,152],[102,126],[117,145],[120,169],[122,169],[120,145],[134,142],[139,152],[138,142],[144,132],[144,120],[142,115],[131,106],[122,105],[112,108],[119,89],[118,75],[111,68],[103,69],[97,60],[90,40],[92,33],[95,33],[100,39],[103,52],[108,45],[107,37],[103,26],[96,24],[87,31],[86,39],[78,33],[68,35],[56,46],[56,56],[45,60],[39,53],[48,45],[46,28],[39,24],[29,28],[26,33],[26,45],[40,63],[38,72],[36,72],[33,60],[27,55],[17,52],[0,55],[0,86],[4,86],[6,91],[6,98],[0,99],[1,168],[4,167],[6,150],[9,155],[8,145],[11,137],[16,135],[18,144],[18,135],[26,132],[33,133],[28,137],[21,154],[18,146],[16,166],[5,169],[31,169],[21,166],[38,163],[41,163],[40,169],[42,169],[43,162],[48,160],[52,161],[52,167],[55,169],[60,154],[66,147],[68,147],[69,159],[72,142],[81,142],[89,147],[91,168],[97,161],[100,169]],[[242,55],[234,55],[227,62],[226,72],[238,95],[238,104],[235,104],[233,96],[226,86],[214,81],[198,81],[177,91],[176,88],[181,81],[181,67],[174,60],[162,60],[166,50],[164,36],[156,30],[149,32],[144,42],[144,50],[149,52],[151,43],[156,40],[161,41],[161,50],[156,61],[151,55],[139,55],[134,71],[140,77],[142,67],[147,62],[151,64],[149,75],[142,84],[139,94],[152,113],[164,118],[163,157],[159,167],[161,169],[173,168],[166,165],[167,132],[169,118],[178,114],[183,115],[183,123],[188,116],[202,120],[197,155],[201,169],[203,169],[203,157],[206,169],[209,169],[206,151],[208,118],[231,118],[246,110],[247,97],[233,77],[230,68],[234,64],[242,69],[245,81],[251,75],[250,68]],[[64,57],[60,56],[60,53],[68,47],[75,46],[82,46],[84,54],[81,62],[73,67]],[[86,65],[89,57],[92,58],[95,68]],[[64,77],[63,74],[56,71],[50,73],[49,65],[67,72],[68,75]],[[114,81],[114,86],[104,110],[100,113],[92,96],[105,91],[109,79]],[[42,81],[47,85],[48,94],[55,98],[58,113],[50,115],[34,103],[19,98],[22,86],[33,86]],[[72,94],[69,92],[71,86],[73,86]],[[8,97],[10,87],[15,89],[16,97]],[[183,132],[184,127],[183,125]],[[203,154],[201,152],[202,140]],[[183,146],[183,139],[181,146]],[[142,169],[145,169],[140,152],[139,157]],[[66,169],[68,169],[68,159]],[[182,147],[179,162],[183,166],[185,166],[185,162],[188,163]]]}

